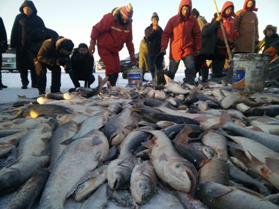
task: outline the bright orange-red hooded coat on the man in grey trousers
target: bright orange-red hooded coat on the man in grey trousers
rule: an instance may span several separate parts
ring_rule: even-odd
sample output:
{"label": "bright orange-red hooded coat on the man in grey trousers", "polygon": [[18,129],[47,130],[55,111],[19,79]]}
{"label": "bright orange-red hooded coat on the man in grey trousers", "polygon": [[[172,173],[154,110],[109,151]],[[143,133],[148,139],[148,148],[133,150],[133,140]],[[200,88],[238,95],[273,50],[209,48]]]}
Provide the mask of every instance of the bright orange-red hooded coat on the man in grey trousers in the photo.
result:
{"label": "bright orange-red hooded coat on the man in grey trousers", "polygon": [[181,18],[180,11],[185,5],[190,6],[192,11],[192,1],[181,0],[179,13],[169,19],[163,31],[161,47],[167,49],[167,45],[170,45],[169,59],[185,59],[189,54],[194,54],[194,50],[199,51],[202,46],[202,35],[197,19],[191,13],[190,16],[186,17],[186,20]]}

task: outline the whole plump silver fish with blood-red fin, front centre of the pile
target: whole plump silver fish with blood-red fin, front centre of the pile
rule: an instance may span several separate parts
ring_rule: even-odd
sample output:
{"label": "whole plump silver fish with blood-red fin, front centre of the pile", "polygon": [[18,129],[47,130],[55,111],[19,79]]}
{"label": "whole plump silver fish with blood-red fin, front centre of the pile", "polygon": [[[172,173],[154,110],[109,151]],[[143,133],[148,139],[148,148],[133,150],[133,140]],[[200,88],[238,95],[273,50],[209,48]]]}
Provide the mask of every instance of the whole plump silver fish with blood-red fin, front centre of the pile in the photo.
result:
{"label": "whole plump silver fish with blood-red fin, front centre of the pile", "polygon": [[174,189],[191,192],[197,185],[197,170],[175,150],[172,141],[162,131],[150,131],[153,139],[143,145],[151,149],[149,155],[158,177]]}

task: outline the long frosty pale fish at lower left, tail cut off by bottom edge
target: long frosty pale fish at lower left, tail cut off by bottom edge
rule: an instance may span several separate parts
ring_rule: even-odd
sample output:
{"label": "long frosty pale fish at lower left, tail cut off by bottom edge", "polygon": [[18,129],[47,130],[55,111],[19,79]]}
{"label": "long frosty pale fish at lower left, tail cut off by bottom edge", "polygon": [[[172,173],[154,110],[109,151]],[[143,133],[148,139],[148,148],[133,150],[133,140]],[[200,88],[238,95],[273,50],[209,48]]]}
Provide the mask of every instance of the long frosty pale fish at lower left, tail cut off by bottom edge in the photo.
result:
{"label": "long frosty pale fish at lower left, tail cut off by bottom edge", "polygon": [[79,139],[67,146],[50,173],[40,199],[40,208],[62,209],[67,196],[105,160],[108,150],[107,137],[99,130],[96,130],[93,139]]}

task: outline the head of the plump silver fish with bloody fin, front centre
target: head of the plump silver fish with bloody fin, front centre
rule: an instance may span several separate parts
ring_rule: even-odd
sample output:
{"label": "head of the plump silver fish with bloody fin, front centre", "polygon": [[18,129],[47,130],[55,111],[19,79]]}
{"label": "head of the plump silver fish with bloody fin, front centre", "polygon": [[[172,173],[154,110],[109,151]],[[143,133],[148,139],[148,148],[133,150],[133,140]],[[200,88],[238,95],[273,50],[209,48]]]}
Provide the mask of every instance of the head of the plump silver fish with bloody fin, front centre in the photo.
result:
{"label": "head of the plump silver fish with bloody fin, front centre", "polygon": [[169,160],[163,168],[167,183],[181,192],[191,192],[197,185],[197,170],[186,160]]}

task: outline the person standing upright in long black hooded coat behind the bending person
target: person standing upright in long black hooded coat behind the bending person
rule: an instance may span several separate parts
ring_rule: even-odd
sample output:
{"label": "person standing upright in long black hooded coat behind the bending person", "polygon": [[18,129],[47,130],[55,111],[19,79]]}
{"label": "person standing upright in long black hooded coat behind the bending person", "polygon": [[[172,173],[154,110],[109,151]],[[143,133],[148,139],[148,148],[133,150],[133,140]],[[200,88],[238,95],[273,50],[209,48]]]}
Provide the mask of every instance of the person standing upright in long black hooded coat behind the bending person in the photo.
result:
{"label": "person standing upright in long black hooded coat behind the bending person", "polygon": [[36,88],[36,71],[29,60],[27,37],[38,28],[45,27],[43,20],[37,15],[33,1],[24,1],[20,6],[20,14],[15,17],[10,36],[10,47],[16,48],[17,69],[22,79],[22,89],[27,89],[29,84],[28,70],[31,74],[31,87]]}

